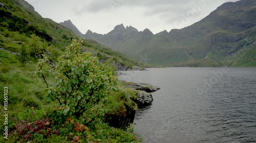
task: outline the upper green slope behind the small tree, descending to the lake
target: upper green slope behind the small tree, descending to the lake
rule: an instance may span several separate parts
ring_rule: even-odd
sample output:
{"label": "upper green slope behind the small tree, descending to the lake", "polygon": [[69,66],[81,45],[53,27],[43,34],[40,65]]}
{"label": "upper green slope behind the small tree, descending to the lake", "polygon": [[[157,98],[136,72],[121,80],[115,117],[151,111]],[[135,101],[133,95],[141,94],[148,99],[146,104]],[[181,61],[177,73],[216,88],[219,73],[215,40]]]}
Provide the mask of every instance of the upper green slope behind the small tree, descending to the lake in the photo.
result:
{"label": "upper green slope behind the small tree, descending to the lake", "polygon": [[[22,44],[28,46],[28,52],[36,62],[40,54],[49,54],[56,60],[61,51],[72,39],[79,39],[67,27],[51,19],[42,18],[26,1],[1,1],[0,5],[0,48],[18,52]],[[82,48],[91,51],[102,60],[113,59],[120,70],[132,69],[133,66],[147,67],[148,64],[138,62],[126,55],[100,45],[92,40],[83,40]],[[34,47],[33,47],[34,46]],[[3,50],[0,50],[2,52]]]}

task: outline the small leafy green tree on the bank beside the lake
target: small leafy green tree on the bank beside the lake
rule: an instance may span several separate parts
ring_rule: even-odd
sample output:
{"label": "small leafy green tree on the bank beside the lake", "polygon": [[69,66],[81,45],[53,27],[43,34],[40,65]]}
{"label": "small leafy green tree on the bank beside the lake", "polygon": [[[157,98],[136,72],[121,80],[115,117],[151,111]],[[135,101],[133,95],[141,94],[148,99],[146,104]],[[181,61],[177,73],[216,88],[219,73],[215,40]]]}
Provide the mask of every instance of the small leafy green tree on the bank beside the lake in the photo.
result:
{"label": "small leafy green tree on the bank beside the lake", "polygon": [[62,115],[76,118],[102,101],[117,83],[113,73],[99,65],[96,57],[81,51],[80,42],[73,40],[61,54],[55,87],[48,91],[50,98],[59,102]]}

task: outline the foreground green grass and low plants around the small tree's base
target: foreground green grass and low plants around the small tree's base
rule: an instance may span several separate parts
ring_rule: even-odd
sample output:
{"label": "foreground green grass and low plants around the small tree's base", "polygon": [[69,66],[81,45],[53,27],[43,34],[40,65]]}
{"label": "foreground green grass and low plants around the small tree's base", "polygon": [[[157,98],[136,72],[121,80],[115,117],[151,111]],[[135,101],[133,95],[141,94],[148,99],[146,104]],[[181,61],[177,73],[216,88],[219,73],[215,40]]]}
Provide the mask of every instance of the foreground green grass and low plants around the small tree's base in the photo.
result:
{"label": "foreground green grass and low plants around the small tree's base", "polygon": [[[89,131],[86,133],[77,132],[74,130],[74,124],[63,123],[62,121],[65,122],[65,119],[53,116],[57,103],[48,99],[45,83],[36,77],[35,62],[30,61],[25,67],[22,67],[15,59],[15,56],[6,51],[0,51],[0,59],[0,89],[8,87],[9,95],[9,139],[7,141],[2,137],[0,142],[17,142],[19,139],[26,140],[26,134],[19,135],[14,132],[15,126],[25,126],[27,123],[36,123],[45,119],[50,119],[48,128],[51,128],[52,131],[57,129],[59,133],[46,135],[44,131],[47,131],[47,128],[42,129],[42,133],[32,132],[33,142],[70,142],[73,140],[74,135],[80,136],[80,139],[84,142],[93,140],[98,142],[139,142],[141,140],[134,135],[132,127],[124,129],[113,128],[104,123],[103,119],[96,118],[98,116],[96,109],[88,111],[83,115],[83,120],[88,118],[95,119],[92,123],[87,124],[83,120],[76,120],[81,125],[88,126]],[[49,83],[55,83],[55,76],[52,75],[48,78]],[[109,105],[104,106],[101,110],[106,115],[118,116],[123,116],[123,113],[126,113],[127,110],[136,110],[137,105],[132,101],[135,98],[135,94],[135,91],[118,88],[117,91],[111,92],[107,96]],[[3,113],[3,102],[0,107],[0,112]],[[1,117],[1,130],[4,127],[3,123],[4,117]],[[71,136],[70,132],[74,133],[74,135]]]}

